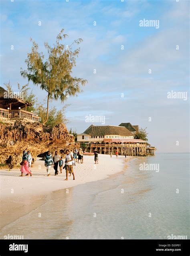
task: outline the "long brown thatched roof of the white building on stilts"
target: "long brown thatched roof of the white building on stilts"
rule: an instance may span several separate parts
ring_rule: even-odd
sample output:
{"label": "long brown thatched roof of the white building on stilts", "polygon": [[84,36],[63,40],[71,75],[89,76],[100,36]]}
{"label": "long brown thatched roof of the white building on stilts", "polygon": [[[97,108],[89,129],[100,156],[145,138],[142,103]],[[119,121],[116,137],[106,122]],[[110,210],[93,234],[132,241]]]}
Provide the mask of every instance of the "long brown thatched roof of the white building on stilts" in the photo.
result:
{"label": "long brown thatched roof of the white building on stilts", "polygon": [[102,136],[102,135],[120,135],[120,136],[133,136],[133,134],[122,126],[94,126],[91,125],[84,132],[85,134],[90,134],[92,136]]}

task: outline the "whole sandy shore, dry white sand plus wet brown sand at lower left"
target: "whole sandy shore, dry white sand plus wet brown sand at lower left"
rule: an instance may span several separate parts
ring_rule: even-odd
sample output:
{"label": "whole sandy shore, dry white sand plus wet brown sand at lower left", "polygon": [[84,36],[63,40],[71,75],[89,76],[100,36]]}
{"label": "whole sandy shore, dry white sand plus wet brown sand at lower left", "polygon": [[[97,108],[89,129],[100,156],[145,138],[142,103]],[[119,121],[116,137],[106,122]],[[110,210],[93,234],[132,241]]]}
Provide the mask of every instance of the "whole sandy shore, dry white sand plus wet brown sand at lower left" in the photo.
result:
{"label": "whole sandy shore, dry white sand plus wet brown sand at lower left", "polygon": [[4,223],[1,223],[0,228],[40,206],[44,200],[49,200],[52,192],[109,178],[110,175],[126,170],[127,162],[134,158],[119,156],[116,159],[115,155],[111,158],[99,154],[99,164],[95,165],[93,156],[85,156],[83,164],[76,163],[73,166],[76,180],[72,180],[71,176],[68,181],[64,181],[65,169],[62,174],[55,176],[51,167],[51,175],[47,177],[44,161],[38,159],[31,167],[32,177],[19,177],[20,169],[1,169],[0,215]]}

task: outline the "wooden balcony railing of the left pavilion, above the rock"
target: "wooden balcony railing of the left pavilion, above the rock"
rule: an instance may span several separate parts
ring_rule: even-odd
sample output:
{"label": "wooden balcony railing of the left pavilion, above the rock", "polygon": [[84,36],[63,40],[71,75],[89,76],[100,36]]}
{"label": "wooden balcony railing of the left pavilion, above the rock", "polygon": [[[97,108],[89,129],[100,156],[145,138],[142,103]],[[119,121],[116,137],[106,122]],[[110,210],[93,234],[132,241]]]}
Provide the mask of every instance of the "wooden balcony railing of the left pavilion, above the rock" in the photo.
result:
{"label": "wooden balcony railing of the left pavilion, above the rock", "polygon": [[8,118],[8,119],[14,119],[14,118],[22,119],[22,118],[26,118],[26,119],[28,119],[30,121],[37,121],[37,122],[39,122],[39,117],[38,116],[33,116],[32,112],[21,110],[21,109],[10,110],[10,109],[0,108],[0,118]]}

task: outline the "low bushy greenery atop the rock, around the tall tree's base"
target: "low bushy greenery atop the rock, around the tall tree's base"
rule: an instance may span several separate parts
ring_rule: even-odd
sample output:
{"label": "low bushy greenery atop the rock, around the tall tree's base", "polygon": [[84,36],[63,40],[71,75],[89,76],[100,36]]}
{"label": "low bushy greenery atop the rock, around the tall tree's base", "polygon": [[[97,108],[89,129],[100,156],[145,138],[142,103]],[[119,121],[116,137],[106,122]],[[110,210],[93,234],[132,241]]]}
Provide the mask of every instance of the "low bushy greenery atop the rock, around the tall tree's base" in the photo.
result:
{"label": "low bushy greenery atop the rock, around the tall tree's base", "polygon": [[[55,126],[60,123],[67,124],[68,120],[65,117],[65,108],[67,105],[65,105],[62,109],[57,110],[56,107],[53,107],[49,111],[48,121],[46,122],[45,126]],[[41,122],[43,123],[46,118],[46,107],[43,105],[38,105],[36,112],[38,116],[41,118]]]}

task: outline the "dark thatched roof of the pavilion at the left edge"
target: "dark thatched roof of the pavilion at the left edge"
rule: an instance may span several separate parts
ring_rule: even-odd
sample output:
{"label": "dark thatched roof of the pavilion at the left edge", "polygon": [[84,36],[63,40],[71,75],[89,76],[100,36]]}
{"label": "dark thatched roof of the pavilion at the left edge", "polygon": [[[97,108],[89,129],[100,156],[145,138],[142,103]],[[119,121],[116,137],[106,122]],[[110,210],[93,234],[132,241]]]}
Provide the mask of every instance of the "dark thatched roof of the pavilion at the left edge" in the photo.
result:
{"label": "dark thatched roof of the pavilion at the left edge", "polygon": [[[5,97],[5,95],[10,97]],[[22,108],[25,107],[25,105],[31,106],[31,103],[24,101],[13,93],[9,93],[8,95],[8,91],[6,91],[3,87],[0,87],[0,108],[7,109],[10,103],[12,103],[11,109],[18,109],[18,107]]]}

